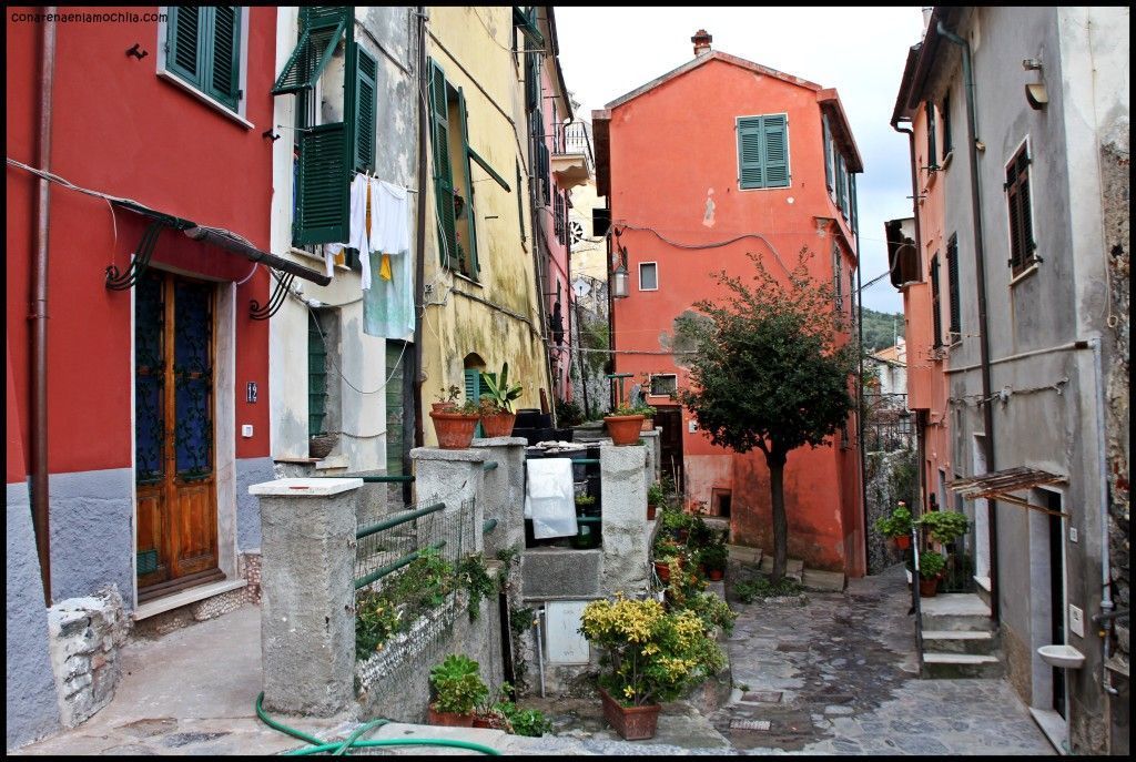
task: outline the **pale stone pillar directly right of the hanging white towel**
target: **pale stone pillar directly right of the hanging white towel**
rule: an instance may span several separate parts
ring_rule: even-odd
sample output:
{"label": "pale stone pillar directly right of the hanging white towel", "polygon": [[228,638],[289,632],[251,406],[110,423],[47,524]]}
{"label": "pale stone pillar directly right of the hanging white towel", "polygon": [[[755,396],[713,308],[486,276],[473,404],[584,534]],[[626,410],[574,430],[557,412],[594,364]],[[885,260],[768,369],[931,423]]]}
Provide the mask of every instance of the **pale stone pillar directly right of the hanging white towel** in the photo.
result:
{"label": "pale stone pillar directly right of the hanging white towel", "polygon": [[600,447],[603,495],[602,593],[648,589],[646,447]]}

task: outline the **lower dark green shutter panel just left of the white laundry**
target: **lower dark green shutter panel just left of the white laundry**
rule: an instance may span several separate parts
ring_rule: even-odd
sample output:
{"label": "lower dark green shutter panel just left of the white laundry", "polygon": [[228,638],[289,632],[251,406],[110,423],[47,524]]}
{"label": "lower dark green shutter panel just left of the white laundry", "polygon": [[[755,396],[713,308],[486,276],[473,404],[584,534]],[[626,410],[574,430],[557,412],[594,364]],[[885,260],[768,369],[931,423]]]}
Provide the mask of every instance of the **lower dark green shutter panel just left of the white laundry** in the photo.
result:
{"label": "lower dark green shutter panel just left of the white laundry", "polygon": [[348,240],[346,129],[342,122],[311,127],[300,139],[300,173],[292,240],[296,245]]}

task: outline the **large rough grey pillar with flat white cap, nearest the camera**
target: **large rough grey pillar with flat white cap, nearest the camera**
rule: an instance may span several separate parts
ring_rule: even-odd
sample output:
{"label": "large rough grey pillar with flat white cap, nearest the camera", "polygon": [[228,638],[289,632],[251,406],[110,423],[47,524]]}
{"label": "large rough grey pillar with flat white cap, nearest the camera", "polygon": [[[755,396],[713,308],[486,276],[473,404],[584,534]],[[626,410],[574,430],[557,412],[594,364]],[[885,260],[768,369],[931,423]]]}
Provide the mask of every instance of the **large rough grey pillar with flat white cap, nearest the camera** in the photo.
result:
{"label": "large rough grey pillar with flat white cap, nearest the camera", "polygon": [[356,503],[362,479],[277,479],[260,499],[265,707],[332,717],[354,703]]}

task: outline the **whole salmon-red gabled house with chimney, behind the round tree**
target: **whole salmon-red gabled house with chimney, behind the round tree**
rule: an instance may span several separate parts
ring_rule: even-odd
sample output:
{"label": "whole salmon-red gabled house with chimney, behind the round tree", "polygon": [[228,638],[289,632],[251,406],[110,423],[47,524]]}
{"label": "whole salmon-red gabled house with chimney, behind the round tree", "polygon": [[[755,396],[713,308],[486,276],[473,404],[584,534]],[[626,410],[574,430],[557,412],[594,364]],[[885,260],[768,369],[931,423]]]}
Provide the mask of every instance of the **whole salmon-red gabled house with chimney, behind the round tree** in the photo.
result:
{"label": "whole salmon-red gabled house with chimney, behind the round tree", "polygon": [[[862,162],[835,90],[710,49],[593,112],[600,195],[611,251],[626,249],[629,295],[612,300],[615,370],[650,382],[663,469],[690,503],[728,516],[732,542],[772,549],[769,474],[760,452],[713,446],[673,396],[687,385],[676,319],[724,294],[713,273],[749,277],[746,254],[787,273],[799,252],[832,284],[834,308],[855,299],[855,174]],[[850,390],[851,390],[850,379]],[[788,555],[807,567],[864,573],[857,421],[785,469]]]}

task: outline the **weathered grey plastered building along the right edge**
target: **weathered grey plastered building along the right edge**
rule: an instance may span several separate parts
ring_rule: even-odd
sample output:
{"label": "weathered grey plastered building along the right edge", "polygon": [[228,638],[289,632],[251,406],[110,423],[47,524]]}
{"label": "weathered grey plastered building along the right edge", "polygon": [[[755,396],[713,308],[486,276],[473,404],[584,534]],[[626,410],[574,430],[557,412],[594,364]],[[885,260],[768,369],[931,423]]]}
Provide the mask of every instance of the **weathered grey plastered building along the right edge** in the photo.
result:
{"label": "weathered grey plastered building along the right edge", "polygon": [[896,104],[944,199],[952,508],[988,497],[1006,675],[1089,754],[1128,753],[1128,16],[936,7]]}

